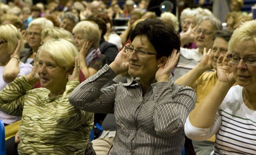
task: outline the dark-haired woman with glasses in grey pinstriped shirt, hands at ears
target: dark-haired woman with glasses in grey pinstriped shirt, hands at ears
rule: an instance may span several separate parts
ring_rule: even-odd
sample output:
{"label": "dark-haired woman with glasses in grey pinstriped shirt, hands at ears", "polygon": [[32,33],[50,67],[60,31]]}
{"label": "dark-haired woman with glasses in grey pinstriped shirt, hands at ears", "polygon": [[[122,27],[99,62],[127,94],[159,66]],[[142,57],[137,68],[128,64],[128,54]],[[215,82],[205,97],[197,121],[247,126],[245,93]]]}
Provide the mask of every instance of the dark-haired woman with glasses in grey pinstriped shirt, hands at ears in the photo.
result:
{"label": "dark-haired woman with glasses in grey pinstriped shirt, hands at ears", "polygon": [[[180,36],[161,20],[147,19],[130,38],[114,62],[74,89],[70,103],[85,111],[114,113],[117,131],[109,154],[181,154],[184,122],[196,98],[192,88],[169,77],[178,60]],[[137,77],[131,84],[102,88],[127,71]]]}

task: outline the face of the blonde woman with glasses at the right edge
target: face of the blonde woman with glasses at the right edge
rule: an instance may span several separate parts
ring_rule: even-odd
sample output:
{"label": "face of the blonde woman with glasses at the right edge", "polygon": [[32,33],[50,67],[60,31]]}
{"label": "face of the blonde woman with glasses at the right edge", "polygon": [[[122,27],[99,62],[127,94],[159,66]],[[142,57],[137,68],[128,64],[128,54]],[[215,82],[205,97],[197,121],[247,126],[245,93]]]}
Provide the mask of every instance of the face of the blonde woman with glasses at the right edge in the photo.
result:
{"label": "face of the blonde woman with glasses at the right edge", "polygon": [[[239,42],[234,46],[232,56],[256,57],[256,46],[253,42]],[[232,70],[236,82],[247,89],[254,90],[256,88],[256,64],[245,64],[243,59],[240,59],[238,64],[232,64]]]}

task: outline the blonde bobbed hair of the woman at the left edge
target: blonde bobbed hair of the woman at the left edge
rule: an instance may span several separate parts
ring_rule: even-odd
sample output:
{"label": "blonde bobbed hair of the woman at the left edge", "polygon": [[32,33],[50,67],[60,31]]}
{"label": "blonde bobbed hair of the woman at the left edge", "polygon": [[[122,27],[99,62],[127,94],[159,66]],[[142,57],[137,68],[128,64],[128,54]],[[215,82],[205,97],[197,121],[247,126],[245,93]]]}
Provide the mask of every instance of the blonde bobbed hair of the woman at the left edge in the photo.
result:
{"label": "blonde bobbed hair of the woman at the left edge", "polygon": [[20,31],[11,24],[0,26],[0,40],[7,41],[9,54],[15,51],[18,45],[17,38],[20,40],[20,51],[23,51],[24,42]]}

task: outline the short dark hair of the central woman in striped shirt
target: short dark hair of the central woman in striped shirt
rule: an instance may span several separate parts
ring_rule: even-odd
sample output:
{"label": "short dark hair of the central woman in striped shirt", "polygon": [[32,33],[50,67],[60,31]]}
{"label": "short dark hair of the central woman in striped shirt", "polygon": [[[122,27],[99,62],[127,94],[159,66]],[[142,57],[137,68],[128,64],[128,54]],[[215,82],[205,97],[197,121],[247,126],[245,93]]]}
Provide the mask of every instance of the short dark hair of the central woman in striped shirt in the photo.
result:
{"label": "short dark hair of the central woman in striped shirt", "polygon": [[154,46],[159,59],[163,56],[169,57],[176,49],[180,51],[180,35],[173,26],[164,24],[160,19],[146,19],[138,22],[136,27],[130,33],[131,42],[136,36],[146,36]]}

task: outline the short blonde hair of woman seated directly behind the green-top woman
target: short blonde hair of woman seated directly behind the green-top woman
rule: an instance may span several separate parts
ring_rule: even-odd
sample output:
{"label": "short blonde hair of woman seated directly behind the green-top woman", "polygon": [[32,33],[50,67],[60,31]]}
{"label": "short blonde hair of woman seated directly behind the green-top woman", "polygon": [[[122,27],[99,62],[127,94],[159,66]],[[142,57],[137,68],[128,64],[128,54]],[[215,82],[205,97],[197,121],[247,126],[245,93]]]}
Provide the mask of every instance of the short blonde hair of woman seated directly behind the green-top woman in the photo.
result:
{"label": "short blonde hair of woman seated directly behind the green-top woman", "polygon": [[93,41],[96,49],[100,45],[100,29],[97,24],[89,21],[81,21],[73,28],[72,33],[82,33],[85,40]]}

